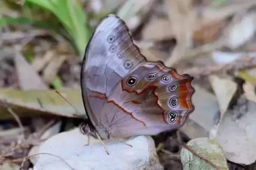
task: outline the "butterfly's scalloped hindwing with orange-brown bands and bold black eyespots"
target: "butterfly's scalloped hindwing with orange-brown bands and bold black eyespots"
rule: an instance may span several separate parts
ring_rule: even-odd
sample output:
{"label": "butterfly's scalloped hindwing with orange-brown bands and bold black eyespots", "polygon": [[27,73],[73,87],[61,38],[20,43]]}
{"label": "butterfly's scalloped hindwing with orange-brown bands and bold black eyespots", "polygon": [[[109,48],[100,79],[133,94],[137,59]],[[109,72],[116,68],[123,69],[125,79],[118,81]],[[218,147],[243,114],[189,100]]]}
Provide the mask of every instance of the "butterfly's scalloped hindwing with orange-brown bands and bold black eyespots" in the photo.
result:
{"label": "butterfly's scalloped hindwing with orange-brown bands and bold black eyespots", "polygon": [[103,107],[104,127],[116,137],[156,135],[178,128],[194,110],[192,77],[160,62],[146,62],[128,73]]}

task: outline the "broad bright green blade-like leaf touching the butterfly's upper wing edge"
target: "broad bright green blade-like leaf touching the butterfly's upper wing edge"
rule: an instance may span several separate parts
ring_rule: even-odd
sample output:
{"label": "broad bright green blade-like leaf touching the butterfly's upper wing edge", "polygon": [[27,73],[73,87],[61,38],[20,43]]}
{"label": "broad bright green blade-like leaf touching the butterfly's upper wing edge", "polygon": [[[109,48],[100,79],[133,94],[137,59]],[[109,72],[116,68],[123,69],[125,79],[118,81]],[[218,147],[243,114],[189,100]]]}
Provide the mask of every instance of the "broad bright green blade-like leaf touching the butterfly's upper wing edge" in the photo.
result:
{"label": "broad bright green blade-like leaf touching the butterfly's upper wing edge", "polygon": [[74,0],[26,0],[52,12],[71,35],[78,53],[82,57],[91,31],[86,26],[87,15]]}

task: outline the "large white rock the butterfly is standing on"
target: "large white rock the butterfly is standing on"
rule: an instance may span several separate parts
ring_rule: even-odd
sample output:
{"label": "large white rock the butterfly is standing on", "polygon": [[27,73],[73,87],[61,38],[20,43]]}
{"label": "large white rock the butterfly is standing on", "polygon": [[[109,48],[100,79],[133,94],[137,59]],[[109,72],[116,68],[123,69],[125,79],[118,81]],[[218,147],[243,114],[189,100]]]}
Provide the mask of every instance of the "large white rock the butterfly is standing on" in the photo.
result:
{"label": "large white rock the butterfly is standing on", "polygon": [[[104,147],[93,137],[90,137],[90,145],[84,146],[87,140],[87,136],[76,128],[51,137],[40,146],[38,153],[60,156],[75,170],[163,169],[151,137],[139,136],[126,141],[132,147],[117,141],[104,141],[110,155],[106,154]],[[39,155],[34,165],[34,170],[56,169],[70,170],[70,167],[60,158],[47,154]]]}

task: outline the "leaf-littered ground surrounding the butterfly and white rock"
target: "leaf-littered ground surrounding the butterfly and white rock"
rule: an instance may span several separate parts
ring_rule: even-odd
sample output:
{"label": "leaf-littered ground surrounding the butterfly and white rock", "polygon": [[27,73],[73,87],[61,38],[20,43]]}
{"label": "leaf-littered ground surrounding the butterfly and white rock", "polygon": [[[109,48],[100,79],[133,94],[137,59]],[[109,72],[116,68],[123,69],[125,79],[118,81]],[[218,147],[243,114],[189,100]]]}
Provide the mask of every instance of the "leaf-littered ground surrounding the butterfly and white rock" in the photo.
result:
{"label": "leaf-littered ground surrounding the butterfly and white rock", "polygon": [[[82,121],[54,90],[85,116],[79,87],[81,57],[92,30],[110,13],[127,22],[148,59],[160,59],[195,77],[194,113],[181,129],[154,137],[164,168],[182,169],[191,156],[200,162],[197,167],[209,166],[200,153],[212,146],[218,148],[212,153],[221,157],[216,164],[227,161],[230,169],[241,170],[256,167],[254,1],[0,3],[0,168],[11,169],[36,154],[33,146],[43,142],[42,132],[35,135],[41,127],[54,135]],[[38,9],[43,12],[38,14]],[[38,119],[41,123],[31,123]],[[50,126],[49,120],[54,120]],[[60,122],[64,128],[51,130]],[[198,151],[191,139],[204,147]],[[185,154],[182,146],[189,146],[190,153]],[[29,167],[32,164],[25,161],[23,168]]]}

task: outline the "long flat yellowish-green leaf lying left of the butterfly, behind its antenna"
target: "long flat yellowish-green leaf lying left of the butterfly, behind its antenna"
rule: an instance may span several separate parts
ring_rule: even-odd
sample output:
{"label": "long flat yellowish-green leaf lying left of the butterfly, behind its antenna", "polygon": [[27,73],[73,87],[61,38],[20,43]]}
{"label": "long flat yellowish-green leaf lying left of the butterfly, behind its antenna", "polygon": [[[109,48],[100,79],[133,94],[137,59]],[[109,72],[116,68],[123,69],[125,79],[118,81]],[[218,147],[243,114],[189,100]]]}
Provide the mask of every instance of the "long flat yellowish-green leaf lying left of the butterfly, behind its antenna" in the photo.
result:
{"label": "long flat yellowish-green leaf lying left of the butterfly, behind its antenna", "polygon": [[[81,90],[62,90],[60,93],[80,111],[82,116],[86,117]],[[54,90],[19,91],[0,89],[0,120],[12,118],[6,107],[12,108],[21,117],[31,117],[36,114],[54,114],[66,117],[79,115]]]}

